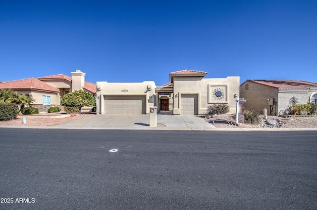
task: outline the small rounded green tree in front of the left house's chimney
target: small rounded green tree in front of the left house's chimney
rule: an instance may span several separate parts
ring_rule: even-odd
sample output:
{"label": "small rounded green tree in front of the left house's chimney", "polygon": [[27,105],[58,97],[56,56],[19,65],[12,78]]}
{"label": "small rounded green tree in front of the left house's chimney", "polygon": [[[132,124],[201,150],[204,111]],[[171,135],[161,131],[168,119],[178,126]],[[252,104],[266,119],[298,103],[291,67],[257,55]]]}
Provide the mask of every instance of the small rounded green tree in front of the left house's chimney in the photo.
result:
{"label": "small rounded green tree in front of the left house's chimney", "polygon": [[93,94],[84,90],[75,90],[74,92],[65,94],[60,100],[60,105],[76,107],[81,114],[83,106],[95,106],[95,97]]}

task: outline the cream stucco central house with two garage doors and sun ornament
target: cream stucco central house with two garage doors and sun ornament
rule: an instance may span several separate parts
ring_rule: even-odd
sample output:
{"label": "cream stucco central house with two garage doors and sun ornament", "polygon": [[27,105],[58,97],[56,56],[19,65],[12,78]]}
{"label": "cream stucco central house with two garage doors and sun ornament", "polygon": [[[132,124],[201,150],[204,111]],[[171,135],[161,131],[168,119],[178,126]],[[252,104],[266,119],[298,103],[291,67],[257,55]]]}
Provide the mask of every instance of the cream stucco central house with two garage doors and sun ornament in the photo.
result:
{"label": "cream stucco central house with two garage doors and sun ornament", "polygon": [[182,70],[169,74],[169,83],[97,82],[97,114],[148,114],[151,106],[174,115],[203,115],[209,105],[228,104],[235,112],[239,77],[203,79],[207,72]]}

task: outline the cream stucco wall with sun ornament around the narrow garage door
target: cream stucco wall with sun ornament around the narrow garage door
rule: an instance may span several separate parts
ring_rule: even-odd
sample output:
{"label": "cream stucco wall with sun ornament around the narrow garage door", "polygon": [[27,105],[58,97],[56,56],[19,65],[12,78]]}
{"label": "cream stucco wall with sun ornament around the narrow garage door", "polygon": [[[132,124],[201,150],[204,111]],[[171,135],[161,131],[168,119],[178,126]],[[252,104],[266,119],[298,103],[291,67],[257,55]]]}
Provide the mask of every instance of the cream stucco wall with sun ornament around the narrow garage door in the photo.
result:
{"label": "cream stucco wall with sun ornament around the narrow garage door", "polygon": [[[235,113],[234,94],[239,94],[239,77],[227,77],[220,79],[201,79],[200,77],[175,77],[174,87],[174,109],[173,114],[181,114],[181,95],[198,95],[198,115],[204,115],[207,107],[214,103],[226,103],[231,113]],[[224,97],[217,99],[213,91],[220,89]],[[177,94],[177,97],[176,97]]]}

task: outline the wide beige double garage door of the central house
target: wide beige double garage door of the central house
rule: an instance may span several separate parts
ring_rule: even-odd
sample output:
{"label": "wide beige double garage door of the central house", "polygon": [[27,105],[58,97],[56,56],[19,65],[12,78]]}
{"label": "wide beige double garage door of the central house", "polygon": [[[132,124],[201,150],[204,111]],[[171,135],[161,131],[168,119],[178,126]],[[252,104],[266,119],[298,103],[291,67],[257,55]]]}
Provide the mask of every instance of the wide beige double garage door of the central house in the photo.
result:
{"label": "wide beige double garage door of the central house", "polygon": [[145,96],[105,96],[105,114],[146,114]]}

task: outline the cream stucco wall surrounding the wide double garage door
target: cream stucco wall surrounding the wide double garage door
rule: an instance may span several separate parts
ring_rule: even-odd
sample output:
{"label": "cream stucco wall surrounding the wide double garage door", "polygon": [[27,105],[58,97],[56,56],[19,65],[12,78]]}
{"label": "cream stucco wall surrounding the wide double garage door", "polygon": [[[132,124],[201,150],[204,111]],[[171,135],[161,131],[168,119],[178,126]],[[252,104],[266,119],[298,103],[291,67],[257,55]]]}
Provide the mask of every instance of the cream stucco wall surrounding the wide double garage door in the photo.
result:
{"label": "cream stucco wall surrounding the wide double garage door", "polygon": [[146,113],[150,113],[150,106],[158,106],[155,94],[155,83],[107,83],[97,82],[97,114],[104,114],[105,95],[144,95],[146,97]]}

